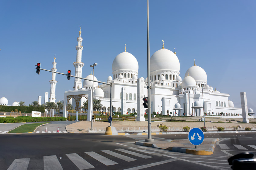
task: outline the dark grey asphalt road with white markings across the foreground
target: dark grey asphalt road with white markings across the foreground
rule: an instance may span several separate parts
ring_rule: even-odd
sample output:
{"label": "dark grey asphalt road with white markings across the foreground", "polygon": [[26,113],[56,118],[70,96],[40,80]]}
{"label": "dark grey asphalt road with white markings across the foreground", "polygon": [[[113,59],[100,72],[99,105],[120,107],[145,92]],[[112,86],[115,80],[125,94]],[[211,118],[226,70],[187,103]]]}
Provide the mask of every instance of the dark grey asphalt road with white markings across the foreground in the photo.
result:
{"label": "dark grey asphalt road with white markings across the foreground", "polygon": [[[213,155],[189,155],[135,145],[137,135],[45,133],[2,134],[1,169],[230,169],[227,159],[256,153],[255,133],[209,134],[220,142]],[[144,135],[144,138],[147,136]],[[187,139],[187,135],[153,135],[155,140]],[[240,146],[239,146],[240,145]],[[246,150],[244,148],[246,148]],[[225,148],[225,149],[224,149]],[[255,155],[254,155],[255,156]]]}

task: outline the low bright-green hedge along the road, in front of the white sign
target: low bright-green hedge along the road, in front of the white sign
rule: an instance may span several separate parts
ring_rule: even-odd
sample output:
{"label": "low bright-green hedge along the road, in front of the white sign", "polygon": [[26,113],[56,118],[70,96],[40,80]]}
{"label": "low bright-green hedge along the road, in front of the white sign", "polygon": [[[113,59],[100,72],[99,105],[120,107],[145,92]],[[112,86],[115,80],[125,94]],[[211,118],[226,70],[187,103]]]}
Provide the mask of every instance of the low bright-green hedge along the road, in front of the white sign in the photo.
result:
{"label": "low bright-green hedge along the road, in front of the white sign", "polygon": [[0,117],[0,123],[20,123],[20,122],[47,122],[66,120],[65,117],[31,117],[31,116],[18,116],[18,117]]}

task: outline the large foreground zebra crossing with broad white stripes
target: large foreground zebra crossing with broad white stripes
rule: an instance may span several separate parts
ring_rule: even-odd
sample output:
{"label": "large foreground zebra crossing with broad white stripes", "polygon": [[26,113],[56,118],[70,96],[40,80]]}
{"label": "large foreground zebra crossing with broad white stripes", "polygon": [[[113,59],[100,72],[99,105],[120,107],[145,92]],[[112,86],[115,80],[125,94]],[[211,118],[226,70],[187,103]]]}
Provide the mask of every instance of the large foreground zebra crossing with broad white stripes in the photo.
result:
{"label": "large foreground zebra crossing with broad white stripes", "polygon": [[[132,151],[131,151],[132,150]],[[101,150],[98,152],[84,152],[84,153],[68,153],[65,154],[64,156],[67,156],[67,158],[71,161],[70,163],[72,165],[70,166],[76,166],[78,169],[89,169],[89,168],[99,168],[98,163],[100,162],[106,166],[111,166],[111,165],[116,165],[118,164],[117,160],[120,160],[120,163],[122,163],[121,160],[126,161],[126,162],[131,162],[131,161],[137,161],[138,159],[149,159],[153,158],[152,156],[148,156],[146,154],[151,154],[151,155],[156,155],[157,150],[144,150],[145,152],[142,151],[141,147],[128,147],[125,149],[118,148],[114,149],[113,151],[111,150]],[[138,152],[143,152],[146,154],[141,154]],[[64,159],[62,156],[57,157],[56,155],[51,155],[51,156],[43,156],[42,159],[38,160],[40,162],[43,162],[44,169],[55,169],[55,170],[63,170],[63,167],[61,163],[63,163],[61,160]],[[111,160],[113,157],[117,158],[115,161]],[[95,159],[97,162],[92,161],[91,158]],[[29,167],[29,161],[30,158],[22,158],[22,159],[15,159],[12,164],[9,166],[7,170],[27,170],[27,169],[33,169],[33,167]],[[65,161],[66,162],[66,161]]]}

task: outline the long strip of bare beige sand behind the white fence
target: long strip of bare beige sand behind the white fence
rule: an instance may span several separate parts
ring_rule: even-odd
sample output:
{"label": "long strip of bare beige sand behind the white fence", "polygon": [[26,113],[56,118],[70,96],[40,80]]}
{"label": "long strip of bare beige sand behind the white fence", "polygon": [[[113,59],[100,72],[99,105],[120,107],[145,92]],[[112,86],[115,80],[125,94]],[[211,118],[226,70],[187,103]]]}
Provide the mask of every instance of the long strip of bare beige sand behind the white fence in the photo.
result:
{"label": "long strip of bare beige sand behind the white fence", "polygon": [[[167,127],[203,127],[204,122],[167,122],[167,121],[152,121],[151,127],[157,127],[157,125],[162,124],[166,125]],[[93,127],[102,128],[102,127],[108,127],[110,123],[107,122],[100,122],[95,121],[93,122]],[[148,122],[139,122],[139,121],[113,121],[112,122],[113,127],[148,127]],[[232,127],[232,126],[240,126],[240,127],[251,127],[255,128],[255,123],[218,123],[218,122],[205,122],[206,127]],[[69,133],[88,133],[88,128],[91,127],[90,121],[79,121],[76,123],[72,123],[66,127],[66,130]],[[79,131],[81,130],[81,131]]]}

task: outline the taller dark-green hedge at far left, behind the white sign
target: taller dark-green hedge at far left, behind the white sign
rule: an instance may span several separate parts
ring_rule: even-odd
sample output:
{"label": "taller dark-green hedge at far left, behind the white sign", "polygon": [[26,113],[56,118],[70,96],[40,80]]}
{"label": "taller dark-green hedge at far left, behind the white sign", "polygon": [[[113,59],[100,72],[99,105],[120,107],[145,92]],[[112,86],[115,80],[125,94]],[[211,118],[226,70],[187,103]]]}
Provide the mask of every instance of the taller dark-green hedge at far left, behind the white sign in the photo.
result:
{"label": "taller dark-green hedge at far left, behind the white sign", "polygon": [[0,106],[0,112],[11,112],[15,111],[15,109],[21,111],[22,113],[32,113],[32,111],[41,111],[41,113],[45,113],[44,107],[31,107],[31,106]]}

